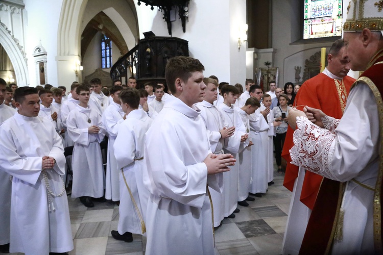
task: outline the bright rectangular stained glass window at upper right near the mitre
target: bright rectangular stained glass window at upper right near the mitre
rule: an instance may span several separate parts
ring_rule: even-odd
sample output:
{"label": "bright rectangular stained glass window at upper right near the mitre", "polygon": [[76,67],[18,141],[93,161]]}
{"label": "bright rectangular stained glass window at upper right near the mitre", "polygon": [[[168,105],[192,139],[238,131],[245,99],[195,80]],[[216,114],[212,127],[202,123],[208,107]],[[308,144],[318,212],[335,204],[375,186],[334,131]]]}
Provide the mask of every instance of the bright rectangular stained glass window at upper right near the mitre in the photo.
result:
{"label": "bright rectangular stained glass window at upper right near the mitre", "polygon": [[304,0],[303,39],[342,35],[342,0]]}

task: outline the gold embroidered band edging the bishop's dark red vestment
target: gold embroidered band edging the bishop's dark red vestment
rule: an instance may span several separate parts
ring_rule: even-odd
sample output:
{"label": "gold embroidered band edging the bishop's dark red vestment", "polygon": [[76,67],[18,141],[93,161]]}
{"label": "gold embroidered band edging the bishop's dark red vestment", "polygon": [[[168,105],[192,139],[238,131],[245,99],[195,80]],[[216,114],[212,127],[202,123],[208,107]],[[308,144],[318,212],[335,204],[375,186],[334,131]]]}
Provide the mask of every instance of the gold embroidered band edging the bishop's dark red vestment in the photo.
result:
{"label": "gold embroidered band edging the bishop's dark red vestment", "polygon": [[374,246],[375,246],[375,252],[378,254],[381,254],[383,249],[381,245],[381,214],[380,214],[380,187],[381,187],[381,180],[383,178],[383,100],[381,98],[380,92],[378,88],[375,86],[375,84],[367,77],[361,77],[356,82],[362,81],[366,83],[370,89],[372,90],[372,93],[375,96],[376,105],[378,108],[378,114],[379,114],[379,130],[380,130],[380,147],[379,147],[379,171],[376,179],[375,184],[375,192],[374,192],[374,201],[373,201],[373,227],[374,227]]}

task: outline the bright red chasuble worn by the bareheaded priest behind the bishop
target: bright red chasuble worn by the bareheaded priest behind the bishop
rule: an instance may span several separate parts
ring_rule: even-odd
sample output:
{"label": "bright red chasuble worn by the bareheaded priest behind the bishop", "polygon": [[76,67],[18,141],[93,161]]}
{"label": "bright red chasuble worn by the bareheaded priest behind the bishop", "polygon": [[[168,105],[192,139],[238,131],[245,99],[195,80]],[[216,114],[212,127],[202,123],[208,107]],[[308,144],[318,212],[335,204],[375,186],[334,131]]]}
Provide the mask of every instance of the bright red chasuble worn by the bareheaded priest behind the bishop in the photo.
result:
{"label": "bright red chasuble worn by the bareheaded priest behind the bishop", "polygon": [[[299,110],[304,106],[313,107],[322,110],[328,116],[340,119],[354,82],[355,79],[349,76],[343,80],[334,80],[320,73],[303,83],[295,97],[294,106],[301,106],[297,107]],[[290,191],[293,191],[295,179],[298,177],[298,167],[290,164],[289,150],[293,147],[293,133],[289,126],[282,150],[282,157],[287,162],[283,186]],[[305,174],[300,200],[310,209],[314,207],[322,179],[322,176],[313,172],[307,171]]]}

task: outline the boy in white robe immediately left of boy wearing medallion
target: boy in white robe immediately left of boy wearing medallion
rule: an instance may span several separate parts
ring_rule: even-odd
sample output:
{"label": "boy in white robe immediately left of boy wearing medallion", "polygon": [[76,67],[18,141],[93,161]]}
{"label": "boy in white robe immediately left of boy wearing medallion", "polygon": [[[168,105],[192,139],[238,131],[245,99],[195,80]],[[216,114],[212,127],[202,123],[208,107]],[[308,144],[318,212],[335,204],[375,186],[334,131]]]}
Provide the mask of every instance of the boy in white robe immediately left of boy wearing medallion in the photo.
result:
{"label": "boy in white robe immediately left of boy wearing medallion", "polygon": [[66,128],[66,119],[68,118],[69,112],[73,109],[75,109],[80,101],[79,96],[76,93],[76,88],[80,86],[79,83],[73,83],[70,85],[70,96],[68,95],[68,99],[66,99],[61,106],[61,123],[65,129],[64,133],[64,147],[73,146],[75,145],[75,142],[70,139],[68,135],[68,130]]}

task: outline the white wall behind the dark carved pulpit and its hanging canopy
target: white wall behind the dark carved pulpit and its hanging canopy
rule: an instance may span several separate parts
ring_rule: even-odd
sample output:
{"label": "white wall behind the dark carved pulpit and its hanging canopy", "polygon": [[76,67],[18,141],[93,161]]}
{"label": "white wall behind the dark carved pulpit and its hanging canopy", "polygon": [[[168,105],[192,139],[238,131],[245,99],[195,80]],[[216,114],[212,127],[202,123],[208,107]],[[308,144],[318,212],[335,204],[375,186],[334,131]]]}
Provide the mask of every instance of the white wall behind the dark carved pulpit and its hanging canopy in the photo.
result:
{"label": "white wall behind the dark carved pulpit and its hanging canopy", "polygon": [[[143,38],[142,32],[147,31],[152,31],[156,36],[170,36],[162,12],[156,8],[152,11],[150,6],[143,3],[135,5],[140,38]],[[220,82],[243,83],[246,79],[246,44],[242,45],[243,49],[238,54],[238,38],[234,33],[242,23],[246,23],[244,0],[195,0],[189,3],[186,32],[182,31],[177,12],[176,21],[172,22],[172,36],[189,42],[190,57],[201,61],[205,66],[206,77],[216,75]]]}

